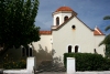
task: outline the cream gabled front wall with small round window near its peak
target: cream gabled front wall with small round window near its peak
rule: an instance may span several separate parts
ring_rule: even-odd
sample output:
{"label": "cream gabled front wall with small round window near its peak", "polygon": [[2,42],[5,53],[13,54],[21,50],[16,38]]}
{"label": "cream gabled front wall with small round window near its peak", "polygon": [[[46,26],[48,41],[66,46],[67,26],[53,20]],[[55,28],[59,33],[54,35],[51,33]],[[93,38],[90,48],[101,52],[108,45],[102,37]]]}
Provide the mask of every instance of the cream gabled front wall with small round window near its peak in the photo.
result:
{"label": "cream gabled front wall with small round window near its peak", "polygon": [[[72,25],[75,25],[76,29],[73,30]],[[56,52],[55,56],[62,56],[63,60],[63,54],[67,51],[67,45],[69,44],[73,46],[79,45],[79,51],[81,53],[94,53],[94,31],[74,17],[63,28],[57,31],[53,31],[53,49]],[[100,51],[100,53],[103,52]]]}

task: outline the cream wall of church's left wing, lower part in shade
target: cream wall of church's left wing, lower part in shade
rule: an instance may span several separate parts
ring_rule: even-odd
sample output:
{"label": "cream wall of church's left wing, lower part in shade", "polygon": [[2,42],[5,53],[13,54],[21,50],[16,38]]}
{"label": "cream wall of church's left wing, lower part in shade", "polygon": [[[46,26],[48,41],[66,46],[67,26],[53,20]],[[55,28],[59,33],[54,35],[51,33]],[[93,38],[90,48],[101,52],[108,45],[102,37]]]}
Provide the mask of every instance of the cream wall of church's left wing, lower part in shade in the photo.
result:
{"label": "cream wall of church's left wing, lower part in shade", "polygon": [[37,66],[41,62],[52,60],[52,35],[41,35],[38,42],[33,42],[33,56],[36,56]]}

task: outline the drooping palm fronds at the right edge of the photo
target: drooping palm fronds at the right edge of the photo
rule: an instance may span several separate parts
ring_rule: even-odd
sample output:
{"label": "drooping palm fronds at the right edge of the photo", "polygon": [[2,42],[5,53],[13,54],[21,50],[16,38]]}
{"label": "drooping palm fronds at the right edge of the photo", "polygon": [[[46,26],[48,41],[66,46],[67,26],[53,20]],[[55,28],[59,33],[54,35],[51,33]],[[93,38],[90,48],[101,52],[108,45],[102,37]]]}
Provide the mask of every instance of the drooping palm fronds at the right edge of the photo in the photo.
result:
{"label": "drooping palm fronds at the right edge of the photo", "polygon": [[[110,20],[110,15],[107,15],[103,18],[103,20]],[[110,25],[108,25],[106,28],[106,31],[110,30]],[[105,40],[99,44],[102,45],[105,44],[106,45],[106,55],[107,57],[109,56],[110,57],[110,33],[105,38]]]}

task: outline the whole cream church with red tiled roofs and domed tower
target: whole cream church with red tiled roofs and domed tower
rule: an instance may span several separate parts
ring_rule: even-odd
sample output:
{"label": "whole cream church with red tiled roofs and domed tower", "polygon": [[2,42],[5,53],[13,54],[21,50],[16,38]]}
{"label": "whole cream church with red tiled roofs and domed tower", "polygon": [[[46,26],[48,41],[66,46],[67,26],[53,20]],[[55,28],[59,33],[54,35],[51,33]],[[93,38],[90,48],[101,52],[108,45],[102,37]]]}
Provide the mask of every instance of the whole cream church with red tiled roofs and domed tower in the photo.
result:
{"label": "whole cream church with red tiled roofs and domed tower", "polygon": [[59,7],[53,12],[51,31],[40,31],[41,40],[33,42],[29,50],[10,50],[10,57],[35,56],[37,63],[58,59],[63,63],[64,53],[98,53],[105,56],[105,45],[99,43],[105,34],[96,27],[90,29],[69,7]]}

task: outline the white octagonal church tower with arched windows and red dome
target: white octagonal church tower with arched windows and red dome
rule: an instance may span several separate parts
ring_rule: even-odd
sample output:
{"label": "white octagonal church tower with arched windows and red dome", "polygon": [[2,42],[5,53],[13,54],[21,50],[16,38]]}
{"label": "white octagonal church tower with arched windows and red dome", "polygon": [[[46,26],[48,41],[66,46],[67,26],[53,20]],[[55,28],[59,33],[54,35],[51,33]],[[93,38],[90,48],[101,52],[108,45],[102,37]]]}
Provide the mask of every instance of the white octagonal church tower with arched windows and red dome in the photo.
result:
{"label": "white octagonal church tower with arched windows and red dome", "polygon": [[58,27],[67,21],[72,15],[77,15],[69,7],[61,7],[53,12],[53,27]]}

